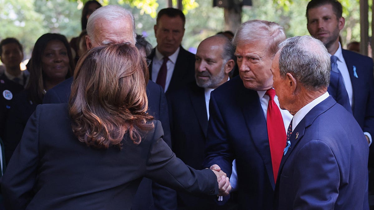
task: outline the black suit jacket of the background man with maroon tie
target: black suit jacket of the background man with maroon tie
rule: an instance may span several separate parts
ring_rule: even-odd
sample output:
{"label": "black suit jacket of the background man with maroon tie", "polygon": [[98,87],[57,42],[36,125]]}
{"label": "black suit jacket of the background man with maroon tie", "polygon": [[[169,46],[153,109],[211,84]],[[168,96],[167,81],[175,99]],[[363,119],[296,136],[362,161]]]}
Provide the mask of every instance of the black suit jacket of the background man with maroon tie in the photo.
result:
{"label": "black suit jacket of the background man with maroon tie", "polygon": [[[154,48],[151,54],[148,56],[148,59],[151,60],[151,64],[149,65],[148,69],[149,78],[151,80],[153,79],[153,77],[157,78],[157,75],[152,75],[152,61],[155,53],[156,48]],[[166,92],[168,92],[169,90],[180,89],[193,81],[195,81],[195,55],[193,53],[188,52],[187,50],[183,49],[182,46],[180,46],[178,58],[175,62],[173,75],[171,77],[168,90]]]}

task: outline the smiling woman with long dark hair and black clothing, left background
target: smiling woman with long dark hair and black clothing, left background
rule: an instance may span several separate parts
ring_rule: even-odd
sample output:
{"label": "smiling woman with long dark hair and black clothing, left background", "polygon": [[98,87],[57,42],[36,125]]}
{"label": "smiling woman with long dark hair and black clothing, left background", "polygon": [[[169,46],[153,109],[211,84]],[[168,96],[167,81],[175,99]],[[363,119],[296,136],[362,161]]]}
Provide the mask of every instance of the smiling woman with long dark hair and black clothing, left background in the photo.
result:
{"label": "smiling woman with long dark hair and black clothing, left background", "polygon": [[42,104],[47,90],[69,78],[74,70],[70,45],[64,35],[44,34],[35,43],[27,64],[30,79],[25,90],[12,102],[7,117],[4,148],[6,162],[21,140],[28,118]]}

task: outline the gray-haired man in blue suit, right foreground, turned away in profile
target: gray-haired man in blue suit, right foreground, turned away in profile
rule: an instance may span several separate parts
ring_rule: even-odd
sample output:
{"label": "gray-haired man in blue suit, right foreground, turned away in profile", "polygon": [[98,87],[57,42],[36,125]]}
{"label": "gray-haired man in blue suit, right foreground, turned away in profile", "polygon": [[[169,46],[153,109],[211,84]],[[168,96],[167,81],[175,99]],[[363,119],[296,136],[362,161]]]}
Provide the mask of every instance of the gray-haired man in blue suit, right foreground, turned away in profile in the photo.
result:
{"label": "gray-haired man in blue suit, right foreground, turned away in profile", "polygon": [[272,74],[294,115],[279,167],[276,209],[369,209],[369,147],[355,118],[327,93],[330,56],[310,36],[279,45]]}

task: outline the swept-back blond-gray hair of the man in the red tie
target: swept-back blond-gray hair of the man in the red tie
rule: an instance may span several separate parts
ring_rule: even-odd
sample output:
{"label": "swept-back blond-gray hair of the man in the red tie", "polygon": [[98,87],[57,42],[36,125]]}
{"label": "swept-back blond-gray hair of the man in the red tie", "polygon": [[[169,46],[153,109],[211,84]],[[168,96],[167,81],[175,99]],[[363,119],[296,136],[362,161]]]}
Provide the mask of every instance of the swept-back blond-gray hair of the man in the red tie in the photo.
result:
{"label": "swept-back blond-gray hair of the man in the red tie", "polygon": [[278,44],[286,39],[284,28],[270,21],[251,20],[240,24],[233,38],[233,45],[254,43],[258,40],[269,42],[268,52],[274,56],[278,51]]}

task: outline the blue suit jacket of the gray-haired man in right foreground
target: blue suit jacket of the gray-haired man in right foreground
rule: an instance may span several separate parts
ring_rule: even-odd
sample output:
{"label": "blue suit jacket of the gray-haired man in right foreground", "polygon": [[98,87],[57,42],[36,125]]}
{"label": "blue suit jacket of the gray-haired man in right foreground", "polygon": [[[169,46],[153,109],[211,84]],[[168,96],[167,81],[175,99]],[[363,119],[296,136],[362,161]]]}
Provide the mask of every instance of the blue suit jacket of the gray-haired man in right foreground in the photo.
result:
{"label": "blue suit jacket of the gray-haired man in right foreground", "polygon": [[276,209],[369,209],[368,143],[331,96],[306,114],[290,141],[279,167]]}

